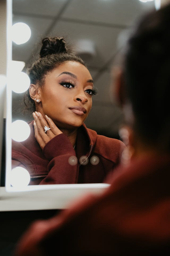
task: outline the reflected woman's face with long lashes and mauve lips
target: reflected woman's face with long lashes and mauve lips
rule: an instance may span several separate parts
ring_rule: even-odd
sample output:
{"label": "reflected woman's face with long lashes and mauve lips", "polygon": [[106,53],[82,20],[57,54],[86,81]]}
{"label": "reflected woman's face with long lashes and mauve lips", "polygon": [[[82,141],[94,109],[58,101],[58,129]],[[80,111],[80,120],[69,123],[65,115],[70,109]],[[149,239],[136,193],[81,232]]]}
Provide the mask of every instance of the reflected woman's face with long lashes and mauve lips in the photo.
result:
{"label": "reflected woman's face with long lashes and mauve lips", "polygon": [[92,106],[93,80],[79,62],[66,62],[46,75],[38,111],[65,129],[82,125]]}

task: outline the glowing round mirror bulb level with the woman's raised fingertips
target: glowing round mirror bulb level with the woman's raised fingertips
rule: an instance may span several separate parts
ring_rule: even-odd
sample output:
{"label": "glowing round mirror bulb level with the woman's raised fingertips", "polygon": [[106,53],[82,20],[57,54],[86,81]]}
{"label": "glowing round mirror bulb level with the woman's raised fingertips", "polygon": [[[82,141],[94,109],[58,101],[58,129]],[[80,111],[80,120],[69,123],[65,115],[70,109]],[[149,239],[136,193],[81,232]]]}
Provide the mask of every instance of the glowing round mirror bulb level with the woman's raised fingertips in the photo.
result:
{"label": "glowing round mirror bulb level with the woman's raised fingertips", "polygon": [[30,127],[23,120],[16,120],[12,123],[12,139],[14,141],[25,141],[29,137]]}

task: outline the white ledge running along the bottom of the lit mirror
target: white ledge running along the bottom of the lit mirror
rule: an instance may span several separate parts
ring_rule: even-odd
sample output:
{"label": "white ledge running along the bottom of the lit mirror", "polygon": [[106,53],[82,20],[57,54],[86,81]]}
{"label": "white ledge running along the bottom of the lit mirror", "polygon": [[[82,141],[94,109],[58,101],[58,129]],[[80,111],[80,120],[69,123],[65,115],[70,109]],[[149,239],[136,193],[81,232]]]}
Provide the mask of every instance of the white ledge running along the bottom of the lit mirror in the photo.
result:
{"label": "white ledge running along the bottom of the lit mirror", "polygon": [[27,191],[0,187],[0,211],[66,209],[85,194],[100,194],[109,184],[61,184],[28,186]]}

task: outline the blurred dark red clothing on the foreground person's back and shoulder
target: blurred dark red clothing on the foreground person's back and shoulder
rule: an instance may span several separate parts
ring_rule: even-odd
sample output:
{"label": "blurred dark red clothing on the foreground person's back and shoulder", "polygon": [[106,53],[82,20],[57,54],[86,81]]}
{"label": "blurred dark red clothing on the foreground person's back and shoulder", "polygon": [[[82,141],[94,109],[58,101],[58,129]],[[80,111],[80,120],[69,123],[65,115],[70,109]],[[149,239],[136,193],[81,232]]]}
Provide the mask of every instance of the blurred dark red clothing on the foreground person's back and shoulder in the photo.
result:
{"label": "blurred dark red clothing on the foreground person's back and shoulder", "polygon": [[170,155],[120,166],[103,195],[89,195],[58,216],[35,222],[15,256],[170,253],[169,183]]}

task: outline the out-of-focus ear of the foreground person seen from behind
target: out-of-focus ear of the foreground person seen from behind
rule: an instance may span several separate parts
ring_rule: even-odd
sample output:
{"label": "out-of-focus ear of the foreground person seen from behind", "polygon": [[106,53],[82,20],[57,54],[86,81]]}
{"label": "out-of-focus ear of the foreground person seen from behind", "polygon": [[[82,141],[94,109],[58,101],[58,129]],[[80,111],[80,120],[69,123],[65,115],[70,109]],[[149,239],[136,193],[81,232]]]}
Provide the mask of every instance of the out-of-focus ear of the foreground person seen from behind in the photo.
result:
{"label": "out-of-focus ear of the foreground person seen from behind", "polygon": [[125,82],[123,71],[120,68],[113,69],[113,77],[114,77],[114,93],[118,103],[123,106],[126,102],[125,97]]}

